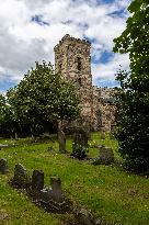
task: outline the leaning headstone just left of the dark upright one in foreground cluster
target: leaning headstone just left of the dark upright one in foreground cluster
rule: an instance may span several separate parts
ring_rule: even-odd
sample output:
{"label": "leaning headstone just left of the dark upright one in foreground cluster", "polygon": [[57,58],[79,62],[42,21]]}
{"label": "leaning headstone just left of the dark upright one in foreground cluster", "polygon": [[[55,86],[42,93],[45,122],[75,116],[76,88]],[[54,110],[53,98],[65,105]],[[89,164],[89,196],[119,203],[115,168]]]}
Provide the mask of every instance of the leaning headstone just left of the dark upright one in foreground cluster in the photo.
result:
{"label": "leaning headstone just left of the dark upright one in foreground cluster", "polygon": [[30,178],[27,176],[26,169],[21,164],[15,165],[12,184],[18,188],[26,188],[30,184]]}

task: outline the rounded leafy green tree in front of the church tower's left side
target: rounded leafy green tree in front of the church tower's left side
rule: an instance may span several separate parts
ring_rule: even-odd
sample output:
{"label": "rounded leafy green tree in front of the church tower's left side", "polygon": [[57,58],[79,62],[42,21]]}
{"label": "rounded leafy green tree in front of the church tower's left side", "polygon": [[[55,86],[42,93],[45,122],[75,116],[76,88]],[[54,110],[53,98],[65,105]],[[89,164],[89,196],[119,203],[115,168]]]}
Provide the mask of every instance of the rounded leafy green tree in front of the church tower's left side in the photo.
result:
{"label": "rounded leafy green tree in front of the church tower's left side", "polygon": [[74,120],[80,115],[79,97],[73,83],[55,74],[53,66],[36,63],[23,80],[7,93],[9,103],[22,127],[38,133],[49,130],[62,120]]}

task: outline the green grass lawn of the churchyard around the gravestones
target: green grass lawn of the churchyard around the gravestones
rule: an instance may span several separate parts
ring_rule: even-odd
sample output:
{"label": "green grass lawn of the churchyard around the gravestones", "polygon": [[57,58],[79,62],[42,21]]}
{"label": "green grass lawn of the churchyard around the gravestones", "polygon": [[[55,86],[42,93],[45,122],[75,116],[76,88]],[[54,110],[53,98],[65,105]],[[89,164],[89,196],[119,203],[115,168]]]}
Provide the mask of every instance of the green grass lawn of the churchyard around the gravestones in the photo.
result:
{"label": "green grass lawn of the churchyard around the gravestones", "polygon": [[[0,224],[61,224],[61,215],[44,212],[25,195],[9,187],[8,180],[13,177],[14,166],[21,162],[31,175],[34,169],[42,169],[46,185],[49,185],[49,177],[59,176],[66,194],[106,224],[149,225],[149,179],[127,173],[114,166],[93,166],[90,161],[79,161],[58,154],[55,138],[54,142],[43,144],[30,144],[28,140],[0,139],[0,143],[11,144],[0,150],[0,158],[7,158],[10,167],[10,173],[0,175]],[[69,138],[68,150],[71,144]],[[93,133],[90,144],[112,147],[115,157],[119,159],[116,140],[108,137],[101,139],[99,133]],[[48,153],[49,146],[55,151]],[[89,155],[98,156],[98,149],[89,148]]]}

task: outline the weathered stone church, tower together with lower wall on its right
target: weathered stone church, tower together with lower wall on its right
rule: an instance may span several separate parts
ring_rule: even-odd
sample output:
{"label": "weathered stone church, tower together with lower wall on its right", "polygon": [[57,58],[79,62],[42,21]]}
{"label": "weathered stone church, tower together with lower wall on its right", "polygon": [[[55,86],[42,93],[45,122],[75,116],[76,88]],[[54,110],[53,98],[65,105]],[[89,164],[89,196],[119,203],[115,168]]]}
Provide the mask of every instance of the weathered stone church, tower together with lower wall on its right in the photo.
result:
{"label": "weathered stone church, tower together with lower wall on its right", "polygon": [[113,89],[92,86],[91,43],[66,34],[54,50],[56,72],[78,87],[83,121],[91,130],[111,132],[115,126]]}

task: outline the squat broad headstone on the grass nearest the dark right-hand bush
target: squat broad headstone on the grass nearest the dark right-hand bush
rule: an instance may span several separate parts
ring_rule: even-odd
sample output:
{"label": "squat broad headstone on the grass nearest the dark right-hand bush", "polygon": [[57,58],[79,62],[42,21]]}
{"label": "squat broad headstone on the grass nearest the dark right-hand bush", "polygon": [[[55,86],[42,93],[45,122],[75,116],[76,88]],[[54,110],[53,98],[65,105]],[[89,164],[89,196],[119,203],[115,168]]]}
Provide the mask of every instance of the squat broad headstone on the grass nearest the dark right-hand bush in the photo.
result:
{"label": "squat broad headstone on the grass nearest the dark right-hand bush", "polygon": [[100,156],[93,160],[93,165],[110,165],[114,162],[114,153],[112,148],[99,146]]}

